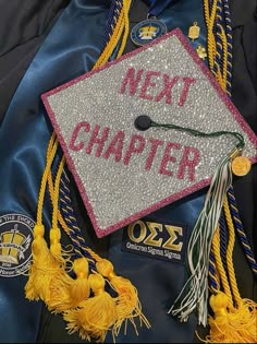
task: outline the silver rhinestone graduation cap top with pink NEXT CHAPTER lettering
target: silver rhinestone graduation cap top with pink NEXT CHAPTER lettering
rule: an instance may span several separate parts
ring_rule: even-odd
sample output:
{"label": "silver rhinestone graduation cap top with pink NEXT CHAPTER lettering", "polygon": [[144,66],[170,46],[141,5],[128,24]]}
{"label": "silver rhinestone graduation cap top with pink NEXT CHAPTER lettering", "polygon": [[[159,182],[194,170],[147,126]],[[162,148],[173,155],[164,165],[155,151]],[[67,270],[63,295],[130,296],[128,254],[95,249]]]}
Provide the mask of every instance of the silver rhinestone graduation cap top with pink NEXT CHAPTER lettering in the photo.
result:
{"label": "silver rhinestone graduation cap top with pink NEXT CHAPTER lettering", "polygon": [[235,145],[233,135],[142,131],[139,116],[201,132],[238,132],[244,156],[256,162],[256,135],[180,29],[42,100],[98,237],[208,186]]}

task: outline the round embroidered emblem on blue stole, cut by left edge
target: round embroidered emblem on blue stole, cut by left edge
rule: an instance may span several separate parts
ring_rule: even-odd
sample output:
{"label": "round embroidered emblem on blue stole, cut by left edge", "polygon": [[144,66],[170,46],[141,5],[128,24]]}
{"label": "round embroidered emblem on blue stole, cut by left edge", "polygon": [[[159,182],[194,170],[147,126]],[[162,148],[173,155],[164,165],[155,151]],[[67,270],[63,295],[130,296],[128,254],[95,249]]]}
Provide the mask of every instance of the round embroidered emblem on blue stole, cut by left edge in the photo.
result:
{"label": "round embroidered emblem on blue stole, cut by left edge", "polygon": [[34,226],[26,215],[0,216],[0,276],[15,277],[29,269]]}

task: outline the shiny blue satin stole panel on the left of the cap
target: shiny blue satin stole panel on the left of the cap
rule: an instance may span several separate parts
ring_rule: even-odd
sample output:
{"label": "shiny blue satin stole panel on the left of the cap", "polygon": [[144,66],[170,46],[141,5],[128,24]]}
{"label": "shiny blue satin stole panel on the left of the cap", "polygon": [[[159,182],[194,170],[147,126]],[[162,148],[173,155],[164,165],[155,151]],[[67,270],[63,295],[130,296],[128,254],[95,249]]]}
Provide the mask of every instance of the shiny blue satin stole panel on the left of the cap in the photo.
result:
{"label": "shiny blue satin stole panel on the left of the cap", "polygon": [[[85,1],[73,1],[19,85],[0,130],[1,215],[13,212],[36,218],[37,195],[51,132],[40,94],[91,68],[102,44],[103,29],[95,33],[95,24],[105,26],[107,10],[102,3],[106,1],[87,1],[86,4]],[[86,26],[84,35],[74,35]],[[49,227],[50,209],[48,200],[46,202],[44,222]],[[41,303],[25,299],[25,282],[24,276],[1,278],[0,306],[1,313],[5,315],[0,323],[3,342],[36,341]]]}

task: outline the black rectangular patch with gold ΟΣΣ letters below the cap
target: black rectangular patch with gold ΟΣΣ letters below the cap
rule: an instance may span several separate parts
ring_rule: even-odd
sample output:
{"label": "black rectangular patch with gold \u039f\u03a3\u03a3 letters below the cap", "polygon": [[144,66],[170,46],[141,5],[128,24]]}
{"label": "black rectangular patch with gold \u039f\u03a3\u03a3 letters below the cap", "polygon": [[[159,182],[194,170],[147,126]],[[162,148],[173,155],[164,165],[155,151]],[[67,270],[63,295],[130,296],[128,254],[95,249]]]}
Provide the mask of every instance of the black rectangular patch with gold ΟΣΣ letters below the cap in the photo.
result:
{"label": "black rectangular patch with gold \u039f\u03a3\u03a3 letters below the cap", "polygon": [[122,250],[170,262],[184,262],[187,227],[137,220],[123,230]]}

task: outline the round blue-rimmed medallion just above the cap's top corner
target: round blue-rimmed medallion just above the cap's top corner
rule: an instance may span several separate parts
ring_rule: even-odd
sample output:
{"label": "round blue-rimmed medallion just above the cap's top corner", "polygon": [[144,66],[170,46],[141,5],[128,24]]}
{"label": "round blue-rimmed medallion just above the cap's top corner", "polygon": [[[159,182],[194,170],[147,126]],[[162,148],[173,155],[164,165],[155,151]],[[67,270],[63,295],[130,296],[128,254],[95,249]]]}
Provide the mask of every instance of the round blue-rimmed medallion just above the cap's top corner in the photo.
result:
{"label": "round blue-rimmed medallion just above the cap's top corner", "polygon": [[132,28],[131,39],[136,46],[144,46],[166,33],[166,24],[156,19],[148,19]]}

